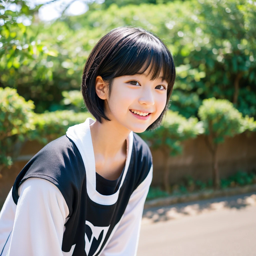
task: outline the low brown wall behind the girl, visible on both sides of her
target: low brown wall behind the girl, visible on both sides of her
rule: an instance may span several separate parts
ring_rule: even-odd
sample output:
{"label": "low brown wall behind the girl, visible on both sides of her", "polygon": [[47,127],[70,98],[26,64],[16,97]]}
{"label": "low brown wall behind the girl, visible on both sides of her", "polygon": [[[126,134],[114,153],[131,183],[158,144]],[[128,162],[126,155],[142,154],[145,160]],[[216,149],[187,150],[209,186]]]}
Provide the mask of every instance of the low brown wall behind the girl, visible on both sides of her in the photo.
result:
{"label": "low brown wall behind the girl, visible on both sides of her", "polygon": [[[169,182],[174,184],[189,174],[194,179],[207,181],[211,178],[211,155],[205,144],[204,135],[183,143],[183,154],[169,157]],[[18,161],[10,169],[3,169],[3,178],[0,179],[0,206],[3,204],[16,176],[29,159],[36,154],[43,145],[33,141],[24,144]],[[152,185],[162,184],[163,155],[161,151],[152,151],[153,180]],[[219,145],[218,150],[220,177],[225,178],[238,170],[251,171],[256,168],[256,133],[248,137],[245,133],[227,138],[225,143]]]}

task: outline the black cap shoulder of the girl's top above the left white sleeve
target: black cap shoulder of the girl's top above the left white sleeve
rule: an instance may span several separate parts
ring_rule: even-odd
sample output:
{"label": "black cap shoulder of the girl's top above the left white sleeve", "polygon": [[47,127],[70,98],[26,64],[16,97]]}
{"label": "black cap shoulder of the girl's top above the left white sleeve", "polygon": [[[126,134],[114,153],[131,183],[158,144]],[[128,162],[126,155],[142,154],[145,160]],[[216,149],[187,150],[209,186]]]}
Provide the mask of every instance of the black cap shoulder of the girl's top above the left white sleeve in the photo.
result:
{"label": "black cap shoulder of the girl's top above the left white sleeve", "polygon": [[85,177],[82,156],[70,138],[63,135],[45,145],[18,174],[13,185],[17,204],[18,188],[28,178],[41,178],[54,184],[71,211],[74,195],[81,189]]}

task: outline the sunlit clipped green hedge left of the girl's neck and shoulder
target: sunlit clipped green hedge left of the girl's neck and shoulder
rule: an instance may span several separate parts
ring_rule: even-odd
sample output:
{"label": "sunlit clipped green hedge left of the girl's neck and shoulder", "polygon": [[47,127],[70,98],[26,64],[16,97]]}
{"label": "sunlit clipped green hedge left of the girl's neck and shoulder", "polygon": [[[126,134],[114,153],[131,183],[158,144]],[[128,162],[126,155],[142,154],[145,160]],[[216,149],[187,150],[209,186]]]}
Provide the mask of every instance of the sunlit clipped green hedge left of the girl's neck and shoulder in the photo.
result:
{"label": "sunlit clipped green hedge left of the girl's neck and shoulder", "polygon": [[33,101],[25,101],[16,89],[0,87],[0,172],[12,166],[27,140],[47,144],[65,135],[69,126],[93,118],[88,112],[74,110],[37,114],[34,108]]}

